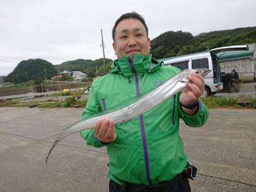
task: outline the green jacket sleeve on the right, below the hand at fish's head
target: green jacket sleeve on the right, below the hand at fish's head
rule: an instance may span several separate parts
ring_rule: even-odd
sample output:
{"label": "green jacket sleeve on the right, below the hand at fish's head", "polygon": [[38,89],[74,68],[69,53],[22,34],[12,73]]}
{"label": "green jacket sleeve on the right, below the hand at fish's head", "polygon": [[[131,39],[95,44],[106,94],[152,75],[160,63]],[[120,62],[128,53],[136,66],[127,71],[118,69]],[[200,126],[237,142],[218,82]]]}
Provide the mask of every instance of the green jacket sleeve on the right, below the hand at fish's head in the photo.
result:
{"label": "green jacket sleeve on the right, below the hand at fish's head", "polygon": [[[181,93],[180,93],[181,94]],[[180,102],[180,101],[179,101]],[[190,127],[202,127],[208,119],[209,111],[207,106],[199,99],[199,110],[196,115],[189,116],[183,112],[179,105],[180,118],[184,120],[185,124]]]}

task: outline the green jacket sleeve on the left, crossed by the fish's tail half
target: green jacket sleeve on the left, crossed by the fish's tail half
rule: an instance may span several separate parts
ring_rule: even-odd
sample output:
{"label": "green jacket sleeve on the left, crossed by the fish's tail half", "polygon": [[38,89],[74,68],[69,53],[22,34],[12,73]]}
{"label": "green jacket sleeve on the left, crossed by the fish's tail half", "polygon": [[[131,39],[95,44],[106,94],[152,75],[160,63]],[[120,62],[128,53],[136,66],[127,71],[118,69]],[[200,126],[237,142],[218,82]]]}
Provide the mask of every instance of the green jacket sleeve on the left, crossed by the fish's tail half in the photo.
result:
{"label": "green jacket sleeve on the left, crossed by the fish's tail half", "polygon": [[[98,103],[97,93],[96,91],[94,91],[94,86],[92,84],[92,86],[90,87],[88,102],[86,104],[86,107],[82,111],[81,119],[89,118],[90,116],[97,114],[98,112],[101,112],[101,108]],[[103,147],[106,145],[96,139],[96,137],[94,136],[93,128],[80,131],[80,135],[87,141],[88,145],[92,145],[93,147]]]}

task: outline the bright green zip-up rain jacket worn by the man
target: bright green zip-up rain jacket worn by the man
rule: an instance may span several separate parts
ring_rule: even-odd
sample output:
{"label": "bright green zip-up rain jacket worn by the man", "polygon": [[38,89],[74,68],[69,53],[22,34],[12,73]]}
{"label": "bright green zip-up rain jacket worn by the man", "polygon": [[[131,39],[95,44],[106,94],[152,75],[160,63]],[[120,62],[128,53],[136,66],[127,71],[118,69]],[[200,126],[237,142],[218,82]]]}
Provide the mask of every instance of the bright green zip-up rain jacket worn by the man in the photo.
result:
{"label": "bright green zip-up rain jacket worn by the man", "polygon": [[[127,56],[115,60],[110,74],[93,82],[82,119],[149,91],[180,71],[161,66],[151,55],[135,55],[129,62]],[[199,102],[195,116],[184,114],[179,106],[180,94],[137,118],[116,124],[117,139],[112,143],[97,141],[93,129],[80,132],[88,145],[106,146],[110,179],[120,185],[122,181],[150,185],[171,180],[183,171],[187,156],[179,135],[179,119],[191,127],[203,126],[208,109]]]}

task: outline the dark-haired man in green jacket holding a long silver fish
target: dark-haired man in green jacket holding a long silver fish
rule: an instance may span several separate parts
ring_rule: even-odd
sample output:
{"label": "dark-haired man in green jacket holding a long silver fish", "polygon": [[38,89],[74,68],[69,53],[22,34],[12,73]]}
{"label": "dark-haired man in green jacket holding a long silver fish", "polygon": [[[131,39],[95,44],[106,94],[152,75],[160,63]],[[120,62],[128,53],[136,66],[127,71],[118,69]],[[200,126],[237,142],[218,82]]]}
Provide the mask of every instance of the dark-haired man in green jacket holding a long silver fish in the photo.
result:
{"label": "dark-haired man in green jacket holding a long silver fish", "polygon": [[[118,18],[112,35],[118,59],[110,74],[93,82],[82,118],[149,91],[180,71],[151,58],[148,28],[136,12]],[[109,191],[190,191],[179,118],[200,127],[208,109],[199,99],[204,78],[195,74],[189,80],[182,93],[137,118],[121,124],[101,119],[94,129],[80,132],[87,144],[107,148]]]}

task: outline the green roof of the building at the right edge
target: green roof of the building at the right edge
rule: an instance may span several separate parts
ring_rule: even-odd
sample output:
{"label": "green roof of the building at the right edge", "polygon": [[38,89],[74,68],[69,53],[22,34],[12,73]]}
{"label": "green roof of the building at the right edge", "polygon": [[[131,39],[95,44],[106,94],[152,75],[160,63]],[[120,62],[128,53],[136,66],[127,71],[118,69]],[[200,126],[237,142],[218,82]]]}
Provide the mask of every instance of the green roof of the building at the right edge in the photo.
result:
{"label": "green roof of the building at the right edge", "polygon": [[229,51],[217,53],[218,61],[235,60],[254,57],[256,43],[248,44],[248,51]]}

